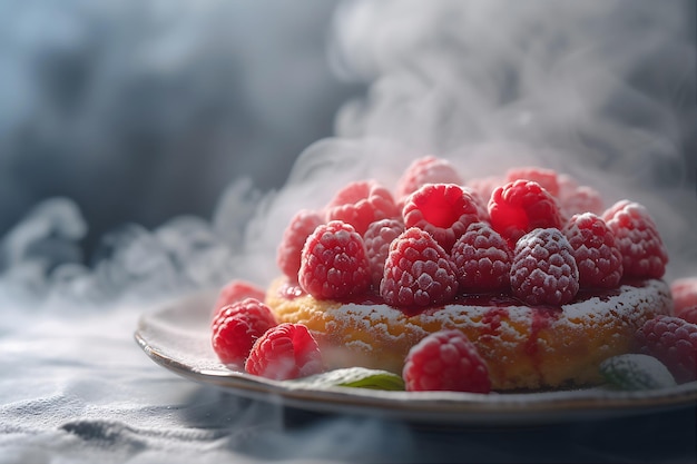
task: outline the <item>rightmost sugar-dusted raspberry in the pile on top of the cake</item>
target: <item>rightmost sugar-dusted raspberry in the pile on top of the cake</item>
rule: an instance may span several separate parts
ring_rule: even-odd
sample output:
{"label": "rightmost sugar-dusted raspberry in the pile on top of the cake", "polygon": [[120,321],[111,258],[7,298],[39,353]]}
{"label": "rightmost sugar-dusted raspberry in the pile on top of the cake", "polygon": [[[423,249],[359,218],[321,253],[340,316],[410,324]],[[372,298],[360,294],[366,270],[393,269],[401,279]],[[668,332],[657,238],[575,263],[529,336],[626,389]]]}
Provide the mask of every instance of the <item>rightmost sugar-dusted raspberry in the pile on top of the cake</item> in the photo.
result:
{"label": "rightmost sugar-dusted raspberry in the pile on top of the cake", "polygon": [[622,254],[625,276],[662,277],[668,263],[668,253],[644,206],[620,200],[606,210],[602,218],[617,238],[617,246]]}

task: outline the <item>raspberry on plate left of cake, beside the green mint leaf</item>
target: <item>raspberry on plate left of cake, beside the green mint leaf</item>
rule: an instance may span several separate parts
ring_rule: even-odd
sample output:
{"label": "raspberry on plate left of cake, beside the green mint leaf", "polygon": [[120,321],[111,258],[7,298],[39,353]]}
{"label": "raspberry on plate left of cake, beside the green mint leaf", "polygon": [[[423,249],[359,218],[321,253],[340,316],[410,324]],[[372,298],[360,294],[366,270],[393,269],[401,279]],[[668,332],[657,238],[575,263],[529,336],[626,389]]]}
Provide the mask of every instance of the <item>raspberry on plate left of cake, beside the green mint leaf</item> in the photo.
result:
{"label": "raspberry on plate left of cake, beside the green mint leaf", "polygon": [[245,363],[247,373],[287,381],[324,371],[320,346],[307,327],[284,323],[261,336]]}

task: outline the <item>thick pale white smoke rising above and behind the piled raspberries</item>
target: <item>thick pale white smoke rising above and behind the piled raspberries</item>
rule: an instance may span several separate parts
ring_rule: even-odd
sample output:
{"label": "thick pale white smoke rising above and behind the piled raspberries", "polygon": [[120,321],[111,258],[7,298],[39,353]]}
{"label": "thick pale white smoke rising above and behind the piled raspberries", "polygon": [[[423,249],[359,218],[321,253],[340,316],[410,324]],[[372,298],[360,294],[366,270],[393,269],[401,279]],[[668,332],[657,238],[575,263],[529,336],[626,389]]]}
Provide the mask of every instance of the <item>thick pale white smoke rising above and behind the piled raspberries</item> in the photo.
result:
{"label": "thick pale white smoke rising above and behind the piled raspberries", "polygon": [[[669,276],[695,273],[697,52],[688,1],[356,0],[333,63],[371,82],[340,137],[450,158],[465,179],[538,165],[645,204]],[[608,205],[609,206],[609,205]]]}

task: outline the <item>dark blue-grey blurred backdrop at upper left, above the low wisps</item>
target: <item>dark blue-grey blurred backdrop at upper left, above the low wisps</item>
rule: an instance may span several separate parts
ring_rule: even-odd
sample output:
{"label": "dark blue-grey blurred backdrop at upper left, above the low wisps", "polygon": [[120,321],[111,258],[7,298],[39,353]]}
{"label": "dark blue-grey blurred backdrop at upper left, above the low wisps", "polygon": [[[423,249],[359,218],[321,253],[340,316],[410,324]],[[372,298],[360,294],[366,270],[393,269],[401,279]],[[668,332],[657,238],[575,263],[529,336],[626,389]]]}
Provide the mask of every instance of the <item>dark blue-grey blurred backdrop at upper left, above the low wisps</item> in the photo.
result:
{"label": "dark blue-grey blurred backdrop at upper left, above the low wisps", "polygon": [[278,188],[361,91],[327,60],[335,2],[0,3],[0,233],[72,199],[91,253],[124,223],[209,217],[239,177]]}

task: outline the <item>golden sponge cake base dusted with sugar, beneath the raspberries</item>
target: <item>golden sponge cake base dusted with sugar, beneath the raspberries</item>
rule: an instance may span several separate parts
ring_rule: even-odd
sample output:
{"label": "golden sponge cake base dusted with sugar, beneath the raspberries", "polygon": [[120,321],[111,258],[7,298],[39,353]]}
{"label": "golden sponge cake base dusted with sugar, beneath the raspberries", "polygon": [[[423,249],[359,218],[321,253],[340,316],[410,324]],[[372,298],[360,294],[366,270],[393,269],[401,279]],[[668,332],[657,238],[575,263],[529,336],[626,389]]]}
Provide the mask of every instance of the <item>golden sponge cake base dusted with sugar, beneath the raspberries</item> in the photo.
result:
{"label": "golden sponge cake base dusted with sugar, beneath the raspberries", "polygon": [[634,333],[647,318],[673,310],[662,280],[627,283],[600,295],[580,294],[562,306],[469,295],[415,314],[382,302],[286,299],[274,287],[269,295],[281,319],[306,324],[315,333],[333,367],[363,365],[399,373],[419,340],[457,328],[487,361],[494,389],[598,383],[603,359],[628,353]]}

